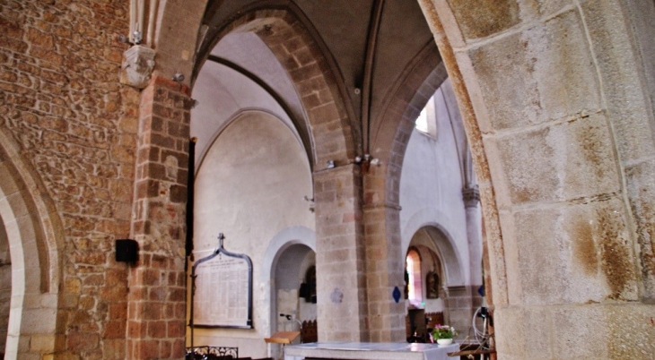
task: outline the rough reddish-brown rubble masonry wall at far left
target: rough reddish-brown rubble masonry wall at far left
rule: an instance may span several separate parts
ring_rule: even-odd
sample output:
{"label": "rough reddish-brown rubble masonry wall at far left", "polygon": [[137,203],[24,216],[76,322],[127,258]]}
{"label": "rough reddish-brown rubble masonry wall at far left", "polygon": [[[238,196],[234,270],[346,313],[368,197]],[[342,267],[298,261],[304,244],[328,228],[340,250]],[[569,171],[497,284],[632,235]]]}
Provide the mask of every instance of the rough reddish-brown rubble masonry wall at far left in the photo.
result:
{"label": "rough reddish-brown rubble masonry wall at far left", "polygon": [[130,233],[135,172],[138,91],[118,83],[127,6],[0,3],[0,130],[22,145],[63,224],[62,358],[126,358],[127,267],[113,246]]}

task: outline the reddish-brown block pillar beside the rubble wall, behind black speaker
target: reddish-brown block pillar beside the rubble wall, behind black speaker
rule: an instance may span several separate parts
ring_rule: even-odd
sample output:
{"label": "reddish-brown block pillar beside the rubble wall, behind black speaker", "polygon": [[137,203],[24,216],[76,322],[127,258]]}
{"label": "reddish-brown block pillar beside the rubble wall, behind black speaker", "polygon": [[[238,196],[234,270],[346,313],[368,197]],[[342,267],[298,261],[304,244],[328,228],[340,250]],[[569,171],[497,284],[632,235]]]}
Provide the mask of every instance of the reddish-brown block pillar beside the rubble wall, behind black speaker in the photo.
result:
{"label": "reddish-brown block pillar beside the rubble wall, behind black speaker", "polygon": [[180,359],[186,323],[189,90],[161,77],[142,93],[129,274],[127,358]]}

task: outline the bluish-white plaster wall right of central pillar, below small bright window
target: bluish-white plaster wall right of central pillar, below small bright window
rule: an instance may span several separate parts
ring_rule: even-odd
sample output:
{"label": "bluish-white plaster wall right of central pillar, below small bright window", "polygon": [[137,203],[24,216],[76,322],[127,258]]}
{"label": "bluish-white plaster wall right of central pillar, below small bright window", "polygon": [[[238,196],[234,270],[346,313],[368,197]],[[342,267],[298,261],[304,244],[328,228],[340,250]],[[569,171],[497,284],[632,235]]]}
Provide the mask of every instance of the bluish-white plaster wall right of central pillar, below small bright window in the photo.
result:
{"label": "bluish-white plaster wall right of central pillar, below small bright window", "polygon": [[[461,121],[450,80],[443,82],[432,99],[436,137],[415,130],[403,162],[400,179],[403,253],[400,256],[405,256],[412,237],[421,227],[437,227],[453,247],[450,257],[456,258],[442,259],[445,266],[450,267],[446,279],[442,279],[444,285],[479,285],[470,282],[467,216],[462,200],[465,180],[461,148],[465,134],[459,125]],[[458,269],[453,269],[453,263]],[[432,304],[426,306],[433,307]]]}

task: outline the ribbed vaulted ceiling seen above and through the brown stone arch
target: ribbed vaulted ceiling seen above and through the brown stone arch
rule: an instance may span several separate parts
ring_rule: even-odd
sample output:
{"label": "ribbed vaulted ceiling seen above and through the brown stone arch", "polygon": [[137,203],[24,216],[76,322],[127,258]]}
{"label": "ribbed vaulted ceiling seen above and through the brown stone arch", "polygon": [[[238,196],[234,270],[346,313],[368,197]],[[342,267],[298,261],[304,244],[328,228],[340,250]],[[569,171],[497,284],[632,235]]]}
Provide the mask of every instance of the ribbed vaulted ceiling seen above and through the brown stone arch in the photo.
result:
{"label": "ribbed vaulted ceiling seen above and through the brown stone arch", "polygon": [[[360,132],[362,138],[367,136],[366,129],[372,119],[380,116],[381,105],[389,97],[393,85],[406,76],[407,67],[417,61],[417,56],[438,51],[416,1],[210,1],[201,29],[204,36],[198,46],[201,61],[196,67],[196,82],[207,76],[210,62],[214,63],[211,66],[215,69],[228,67],[240,73],[243,75],[240,85],[233,79],[229,84],[218,85],[227,92],[236,91],[231,98],[225,99],[234,101],[243,96],[243,91],[255,91],[249,87],[265,89],[287,113],[306,148],[310,145],[308,129],[297,120],[304,116],[301,101],[284,68],[275,62],[275,56],[256,34],[232,32],[222,36],[235,19],[259,9],[293,13],[320,45],[332,64],[336,81],[340,81],[345,89],[345,97],[349,98],[346,104],[354,116],[353,126],[363,129]],[[224,82],[227,79],[219,77],[216,80]],[[196,86],[196,99],[198,91],[211,91],[211,87]],[[218,99],[206,94],[204,98]],[[215,130],[207,129],[201,133],[206,135],[215,133]],[[356,141],[366,142],[363,139]]]}

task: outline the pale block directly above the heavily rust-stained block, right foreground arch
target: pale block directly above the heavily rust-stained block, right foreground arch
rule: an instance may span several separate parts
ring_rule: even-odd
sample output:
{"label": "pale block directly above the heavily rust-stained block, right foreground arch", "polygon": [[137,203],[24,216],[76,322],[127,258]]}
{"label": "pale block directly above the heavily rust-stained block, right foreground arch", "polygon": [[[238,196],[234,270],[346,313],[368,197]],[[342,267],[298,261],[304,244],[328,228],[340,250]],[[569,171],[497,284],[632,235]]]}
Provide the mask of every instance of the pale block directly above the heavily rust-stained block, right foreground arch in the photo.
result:
{"label": "pale block directly above the heavily rust-stained block, right foreground arch", "polygon": [[572,200],[620,190],[613,141],[602,114],[486,143],[497,147],[504,170],[501,178],[507,182],[499,185],[508,186],[512,204]]}

